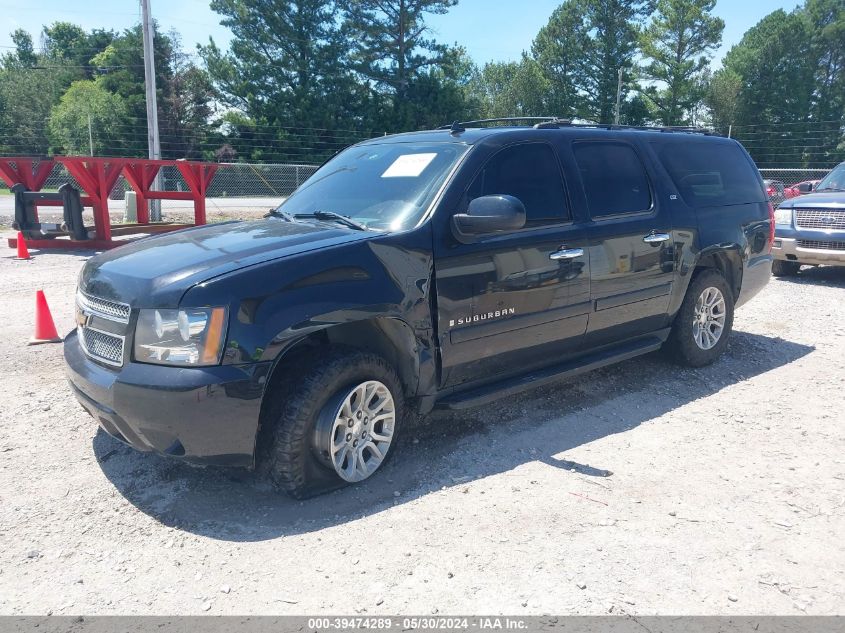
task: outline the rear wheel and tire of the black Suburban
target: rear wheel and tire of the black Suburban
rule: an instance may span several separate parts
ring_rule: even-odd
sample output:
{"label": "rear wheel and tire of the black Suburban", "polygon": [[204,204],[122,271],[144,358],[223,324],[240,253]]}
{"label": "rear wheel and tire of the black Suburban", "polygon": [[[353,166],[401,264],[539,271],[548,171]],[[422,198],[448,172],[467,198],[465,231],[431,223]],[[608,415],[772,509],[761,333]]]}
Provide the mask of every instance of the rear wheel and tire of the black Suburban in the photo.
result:
{"label": "rear wheel and tire of the black Suburban", "polygon": [[725,351],[733,318],[734,298],[727,281],[718,271],[704,269],[687,288],[667,350],[682,365],[709,365]]}

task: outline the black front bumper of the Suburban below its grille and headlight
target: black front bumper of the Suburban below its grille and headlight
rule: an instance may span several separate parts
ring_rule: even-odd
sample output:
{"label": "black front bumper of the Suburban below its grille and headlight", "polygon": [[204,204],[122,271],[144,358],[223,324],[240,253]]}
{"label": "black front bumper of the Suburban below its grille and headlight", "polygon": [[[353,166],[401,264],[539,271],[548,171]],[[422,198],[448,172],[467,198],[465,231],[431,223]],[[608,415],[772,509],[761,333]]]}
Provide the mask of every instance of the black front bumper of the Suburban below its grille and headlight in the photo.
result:
{"label": "black front bumper of the Suburban below its grille and headlight", "polygon": [[139,451],[226,466],[252,466],[271,363],[119,370],[88,358],[76,332],[65,339],[67,377],[104,431]]}

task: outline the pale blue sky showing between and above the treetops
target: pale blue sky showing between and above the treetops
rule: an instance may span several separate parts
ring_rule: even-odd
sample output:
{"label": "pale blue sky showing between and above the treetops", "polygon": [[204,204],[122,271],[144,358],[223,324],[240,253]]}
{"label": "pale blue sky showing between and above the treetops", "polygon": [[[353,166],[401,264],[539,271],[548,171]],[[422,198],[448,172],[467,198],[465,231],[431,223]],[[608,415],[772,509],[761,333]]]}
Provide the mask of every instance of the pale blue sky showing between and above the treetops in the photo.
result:
{"label": "pale blue sky showing between and above the treetops", "polygon": [[[197,43],[208,37],[220,45],[231,40],[231,33],[220,26],[217,14],[209,8],[208,0],[150,0],[153,17],[163,30],[175,29],[182,35],[187,52],[196,50]],[[537,31],[548,21],[560,0],[460,0],[446,15],[429,18],[435,37],[445,44],[464,46],[476,63],[518,59],[523,50],[531,47]],[[731,46],[742,39],[749,28],[763,16],[783,8],[791,11],[800,2],[794,0],[718,0],[714,13],[725,21],[722,46],[714,55],[718,66]],[[34,6],[37,5],[37,6]],[[514,7],[518,9],[514,9]],[[0,0],[0,51],[11,47],[9,34],[24,28],[38,36],[44,23],[74,22],[86,29],[106,28],[123,30],[140,21],[140,2],[137,0]]]}

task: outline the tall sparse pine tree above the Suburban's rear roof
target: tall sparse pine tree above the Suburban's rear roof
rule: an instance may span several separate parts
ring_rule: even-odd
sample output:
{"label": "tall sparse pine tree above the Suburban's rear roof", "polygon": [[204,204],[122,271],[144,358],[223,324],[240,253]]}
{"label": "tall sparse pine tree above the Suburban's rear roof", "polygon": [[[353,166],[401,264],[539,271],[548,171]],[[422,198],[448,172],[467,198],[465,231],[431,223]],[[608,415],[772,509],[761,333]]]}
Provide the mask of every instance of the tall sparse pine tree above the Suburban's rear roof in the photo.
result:
{"label": "tall sparse pine tree above the Suburban's rear roof", "polygon": [[657,0],[640,38],[648,61],[643,77],[656,82],[646,100],[663,125],[685,125],[701,101],[701,75],[722,40],[725,23],[711,15],[716,0]]}

